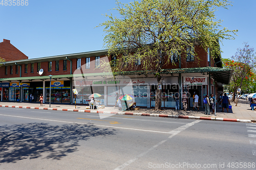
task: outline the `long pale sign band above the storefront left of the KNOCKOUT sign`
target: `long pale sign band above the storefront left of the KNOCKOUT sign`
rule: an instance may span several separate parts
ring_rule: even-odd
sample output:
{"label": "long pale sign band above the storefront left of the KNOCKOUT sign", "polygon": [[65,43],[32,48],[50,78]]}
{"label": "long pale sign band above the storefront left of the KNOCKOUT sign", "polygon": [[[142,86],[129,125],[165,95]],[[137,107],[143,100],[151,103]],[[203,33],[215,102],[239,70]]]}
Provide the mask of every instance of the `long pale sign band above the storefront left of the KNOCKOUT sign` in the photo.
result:
{"label": "long pale sign band above the storefront left of the KNOCKOUT sign", "polygon": [[[75,86],[126,86],[126,85],[157,85],[156,78],[138,79],[104,79],[104,80],[76,80]],[[163,80],[163,84],[178,84],[178,77],[168,77]]]}

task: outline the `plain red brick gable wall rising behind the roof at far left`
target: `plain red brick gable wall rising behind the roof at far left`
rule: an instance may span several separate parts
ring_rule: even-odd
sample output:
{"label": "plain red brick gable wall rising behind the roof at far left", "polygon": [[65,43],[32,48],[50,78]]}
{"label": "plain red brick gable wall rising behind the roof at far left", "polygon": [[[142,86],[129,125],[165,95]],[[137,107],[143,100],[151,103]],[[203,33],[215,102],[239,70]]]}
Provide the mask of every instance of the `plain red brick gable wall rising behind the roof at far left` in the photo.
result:
{"label": "plain red brick gable wall rising behind the roof at far left", "polygon": [[0,43],[0,57],[4,58],[6,61],[23,60],[28,59],[28,57],[20,52],[15,46],[10,43],[10,40],[4,39]]}

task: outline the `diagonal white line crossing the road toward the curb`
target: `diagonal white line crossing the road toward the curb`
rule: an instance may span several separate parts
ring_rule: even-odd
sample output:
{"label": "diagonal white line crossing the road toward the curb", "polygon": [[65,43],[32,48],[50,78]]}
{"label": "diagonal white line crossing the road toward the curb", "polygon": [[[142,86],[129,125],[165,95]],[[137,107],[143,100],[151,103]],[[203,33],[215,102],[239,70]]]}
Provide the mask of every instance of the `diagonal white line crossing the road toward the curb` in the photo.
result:
{"label": "diagonal white line crossing the road toward the curb", "polygon": [[[201,121],[202,121],[202,120],[196,120],[196,121],[194,121],[194,122],[188,123],[188,124],[183,125],[183,126],[181,126],[181,127],[179,127],[179,128],[176,128],[175,130],[170,131],[169,133],[173,133],[173,134],[170,135],[168,138],[174,137],[175,135],[177,135],[177,134],[180,133],[181,131],[183,131],[183,130],[187,129],[188,127],[193,126],[193,125],[195,125],[196,123],[199,123],[199,122],[201,122]],[[130,165],[131,163],[133,163],[133,162],[136,161],[137,159],[141,158],[142,156],[146,155],[148,152],[154,150],[155,148],[157,148],[159,145],[163,144],[163,143],[166,142],[166,141],[167,141],[167,139],[160,141],[159,143],[157,143],[156,145],[154,145],[153,147],[151,147],[151,148],[148,149],[147,151],[145,151],[145,152],[143,152],[142,154],[136,156],[135,158],[130,159],[129,161],[123,163],[122,165],[118,166],[118,167],[115,168],[114,170],[119,170],[119,169],[122,169],[122,168],[124,168],[124,167]]]}

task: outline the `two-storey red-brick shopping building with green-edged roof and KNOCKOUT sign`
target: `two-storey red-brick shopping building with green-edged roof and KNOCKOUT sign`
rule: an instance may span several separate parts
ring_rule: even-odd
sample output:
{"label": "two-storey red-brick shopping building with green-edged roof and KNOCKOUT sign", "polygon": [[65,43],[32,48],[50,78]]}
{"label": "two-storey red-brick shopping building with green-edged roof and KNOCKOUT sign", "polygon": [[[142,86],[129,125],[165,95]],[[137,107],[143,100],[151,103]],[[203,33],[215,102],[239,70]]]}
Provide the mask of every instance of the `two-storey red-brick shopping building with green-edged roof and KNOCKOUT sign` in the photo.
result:
{"label": "two-storey red-brick shopping building with green-edged roof and KNOCKOUT sign", "polygon": [[[1,43],[0,43],[1,44]],[[189,94],[189,106],[193,103],[193,94],[197,92],[203,101],[205,94],[223,92],[223,84],[228,84],[232,70],[222,68],[221,58],[212,58],[200,46],[195,47],[198,58],[187,55],[176,65],[166,65],[161,70],[162,107],[174,108],[174,93]],[[1,51],[0,51],[1,52]],[[157,80],[152,74],[143,74],[141,70],[123,72],[113,75],[104,72],[102,61],[110,61],[106,57],[107,50],[67,54],[34,59],[7,61],[0,67],[1,101],[38,102],[40,94],[44,95],[44,103],[87,105],[89,95],[99,93],[100,104],[114,106],[116,95],[132,94],[137,106],[154,107]],[[1,54],[0,54],[1,55]],[[0,56],[1,57],[1,56]],[[200,62],[199,62],[200,61]],[[203,107],[203,102],[200,103]]]}

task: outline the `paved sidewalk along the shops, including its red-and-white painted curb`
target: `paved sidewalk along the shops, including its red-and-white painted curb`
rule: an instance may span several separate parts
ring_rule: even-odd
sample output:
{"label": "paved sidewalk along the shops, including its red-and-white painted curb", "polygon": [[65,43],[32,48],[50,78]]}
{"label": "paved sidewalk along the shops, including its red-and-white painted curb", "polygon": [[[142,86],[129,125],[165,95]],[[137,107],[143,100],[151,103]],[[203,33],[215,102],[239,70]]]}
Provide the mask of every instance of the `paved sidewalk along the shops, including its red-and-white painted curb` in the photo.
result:
{"label": "paved sidewalk along the shops, including its red-and-white painted curb", "polygon": [[[231,103],[232,109],[229,109],[229,113],[224,109],[217,107],[216,116],[214,114],[205,115],[204,109],[199,111],[175,111],[174,109],[166,109],[163,111],[154,111],[150,108],[141,108],[140,110],[127,110],[119,111],[118,108],[105,107],[104,109],[91,110],[86,109],[84,105],[63,105],[63,104],[43,104],[40,106],[39,103],[14,103],[14,102],[0,102],[2,107],[20,107],[20,108],[31,108],[31,109],[44,109],[44,110],[63,110],[63,111],[79,111],[79,112],[91,112],[91,113],[113,113],[113,114],[126,114],[126,115],[142,115],[142,116],[159,116],[159,117],[175,117],[175,118],[195,118],[195,119],[208,119],[208,120],[220,120],[220,121],[231,121],[231,122],[254,122],[256,120],[256,111],[251,110],[249,102],[240,100],[238,106],[234,106]],[[219,106],[219,105],[218,105]]]}

